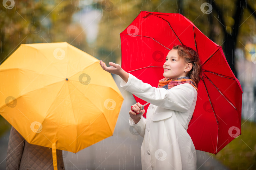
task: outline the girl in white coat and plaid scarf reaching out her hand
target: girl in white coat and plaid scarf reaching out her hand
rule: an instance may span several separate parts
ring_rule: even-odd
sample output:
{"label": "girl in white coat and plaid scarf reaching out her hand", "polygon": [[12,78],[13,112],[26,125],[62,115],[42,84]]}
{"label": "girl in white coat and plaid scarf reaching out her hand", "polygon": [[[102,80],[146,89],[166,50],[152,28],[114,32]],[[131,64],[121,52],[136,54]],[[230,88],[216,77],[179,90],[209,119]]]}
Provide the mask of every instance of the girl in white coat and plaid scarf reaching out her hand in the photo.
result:
{"label": "girl in white coat and plaid scarf reaching out her hand", "polygon": [[[142,169],[196,169],[197,156],[187,133],[197,100],[197,85],[201,79],[200,59],[196,51],[176,45],[163,64],[163,78],[158,87],[144,83],[120,65],[110,62],[101,67],[123,80],[120,87],[150,103],[147,119],[142,105],[136,103],[129,111],[130,125],[144,139],[141,146]],[[150,78],[150,77],[149,77]],[[137,113],[133,112],[136,111]]]}

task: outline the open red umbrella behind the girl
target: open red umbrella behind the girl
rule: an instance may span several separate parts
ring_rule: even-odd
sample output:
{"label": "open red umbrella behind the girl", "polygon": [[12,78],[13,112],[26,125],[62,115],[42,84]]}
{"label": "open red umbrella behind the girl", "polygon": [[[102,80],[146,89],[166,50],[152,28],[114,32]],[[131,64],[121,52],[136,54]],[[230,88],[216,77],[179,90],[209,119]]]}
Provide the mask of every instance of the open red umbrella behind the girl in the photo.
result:
{"label": "open red umbrella behind the girl", "polygon": [[[222,47],[190,20],[181,14],[141,11],[120,37],[122,68],[156,88],[164,78],[165,57],[174,44],[184,44],[198,52],[203,79],[198,83],[197,103],[187,129],[196,150],[217,154],[241,134],[240,82]],[[133,96],[137,102],[146,103]],[[144,108],[147,110],[148,105]]]}

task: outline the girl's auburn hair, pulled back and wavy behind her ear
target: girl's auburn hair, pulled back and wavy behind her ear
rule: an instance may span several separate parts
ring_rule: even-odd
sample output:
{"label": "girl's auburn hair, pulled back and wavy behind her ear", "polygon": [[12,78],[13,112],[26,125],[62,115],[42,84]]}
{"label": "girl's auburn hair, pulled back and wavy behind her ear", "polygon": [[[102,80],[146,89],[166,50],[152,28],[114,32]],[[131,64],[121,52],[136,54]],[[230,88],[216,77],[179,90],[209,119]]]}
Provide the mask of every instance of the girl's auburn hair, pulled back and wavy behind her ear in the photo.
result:
{"label": "girl's auburn hair, pulled back and wavy behind her ear", "polygon": [[192,64],[192,69],[188,72],[187,76],[198,85],[202,79],[202,66],[198,53],[186,45],[175,45],[172,49],[178,50],[178,55],[185,59],[186,63]]}

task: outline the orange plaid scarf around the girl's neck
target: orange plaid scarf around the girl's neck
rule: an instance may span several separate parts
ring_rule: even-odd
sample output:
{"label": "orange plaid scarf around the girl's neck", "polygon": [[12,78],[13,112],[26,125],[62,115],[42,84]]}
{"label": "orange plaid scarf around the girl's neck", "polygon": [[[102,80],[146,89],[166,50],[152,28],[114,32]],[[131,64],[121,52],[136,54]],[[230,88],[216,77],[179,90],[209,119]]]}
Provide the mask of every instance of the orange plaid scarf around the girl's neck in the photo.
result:
{"label": "orange plaid scarf around the girl's neck", "polygon": [[191,84],[197,90],[196,83],[189,76],[175,78],[175,79],[169,79],[169,78],[165,77],[165,78],[159,80],[157,88],[165,88],[168,90],[170,88],[173,88],[174,86],[177,86],[179,84],[184,84],[184,83]]}

